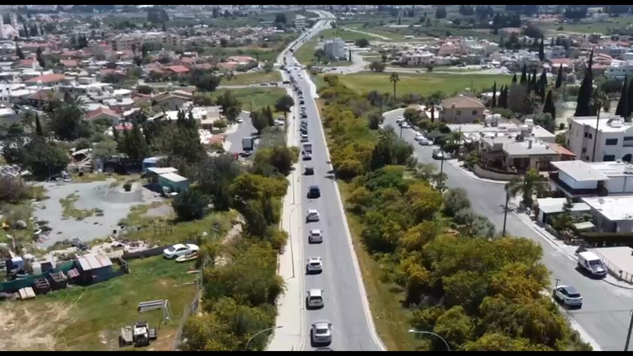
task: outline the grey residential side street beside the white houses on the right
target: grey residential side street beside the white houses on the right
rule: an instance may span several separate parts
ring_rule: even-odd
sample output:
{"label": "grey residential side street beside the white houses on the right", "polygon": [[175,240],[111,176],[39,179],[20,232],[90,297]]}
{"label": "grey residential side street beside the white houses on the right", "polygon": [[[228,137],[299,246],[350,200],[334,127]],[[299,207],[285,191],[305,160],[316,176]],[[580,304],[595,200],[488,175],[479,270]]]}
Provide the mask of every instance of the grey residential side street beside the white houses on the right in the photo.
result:
{"label": "grey residential side street beside the white houses on the right", "polygon": [[[384,125],[391,125],[396,129],[396,133],[399,133],[396,118],[402,115],[402,112],[403,110],[399,110],[385,115]],[[440,162],[431,157],[434,147],[420,146],[413,139],[414,136],[413,130],[403,129],[403,137],[413,144],[418,161],[436,163],[439,168]],[[446,162],[444,173],[448,175],[448,188],[466,189],[473,210],[486,215],[498,230],[502,229],[505,204],[503,184],[477,181]],[[603,351],[624,350],[630,321],[629,310],[633,308],[633,291],[584,276],[576,270],[575,261],[548,243],[513,213],[508,213],[506,230],[508,234],[529,238],[542,246],[542,262],[551,272],[552,287],[555,280],[559,279],[559,284],[572,285],[578,289],[583,298],[583,305],[580,310],[567,310],[572,322],[577,322]]]}

